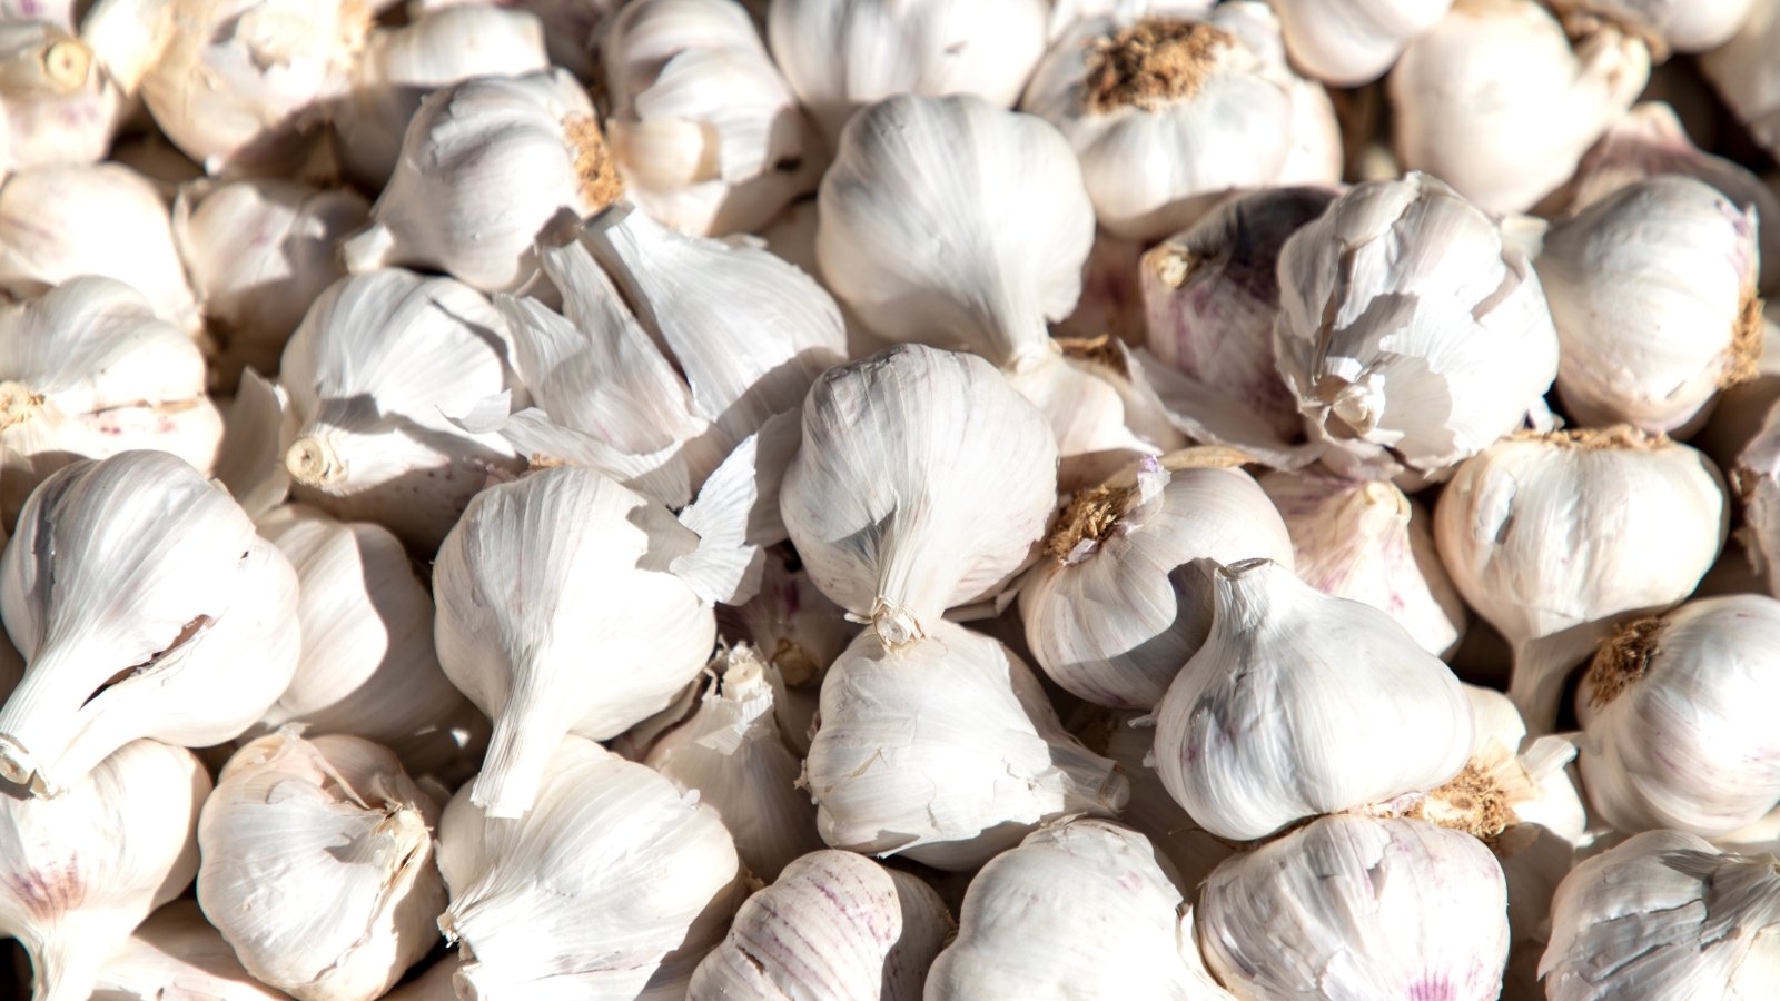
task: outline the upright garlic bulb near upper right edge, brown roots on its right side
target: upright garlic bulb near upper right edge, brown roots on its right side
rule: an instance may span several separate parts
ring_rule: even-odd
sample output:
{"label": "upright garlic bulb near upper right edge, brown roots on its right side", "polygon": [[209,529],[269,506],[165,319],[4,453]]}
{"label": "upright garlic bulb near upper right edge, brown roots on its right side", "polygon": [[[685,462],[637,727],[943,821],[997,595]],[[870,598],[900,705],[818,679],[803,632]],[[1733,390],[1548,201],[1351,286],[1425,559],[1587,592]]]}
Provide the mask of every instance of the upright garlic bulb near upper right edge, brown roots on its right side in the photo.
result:
{"label": "upright garlic bulb near upper right edge, brown roots on its right side", "polygon": [[1755,376],[1755,212],[1705,182],[1655,176],[1545,233],[1534,262],[1558,324],[1558,394],[1584,426],[1698,426]]}

